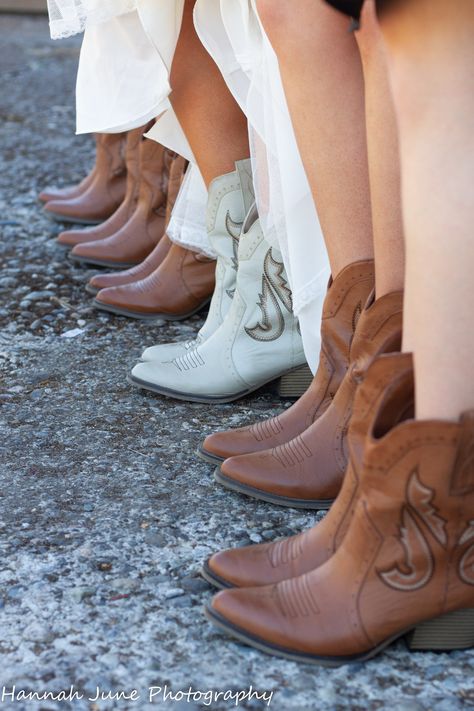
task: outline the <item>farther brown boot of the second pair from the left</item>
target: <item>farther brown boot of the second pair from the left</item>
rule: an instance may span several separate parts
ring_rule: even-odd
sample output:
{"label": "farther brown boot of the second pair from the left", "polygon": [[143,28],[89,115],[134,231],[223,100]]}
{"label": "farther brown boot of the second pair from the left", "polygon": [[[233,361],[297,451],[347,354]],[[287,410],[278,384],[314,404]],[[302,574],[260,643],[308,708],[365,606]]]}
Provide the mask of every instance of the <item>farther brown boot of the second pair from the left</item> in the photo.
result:
{"label": "farther brown boot of the second pair from the left", "polygon": [[127,134],[125,148],[125,164],[127,166],[127,188],[125,197],[120,207],[109,217],[95,227],[88,227],[82,230],[67,230],[60,232],[57,242],[66,247],[74,247],[76,244],[84,242],[94,242],[98,239],[105,239],[117,232],[133,215],[137,205],[138,181],[139,181],[139,148],[146,126],[140,126]]}

